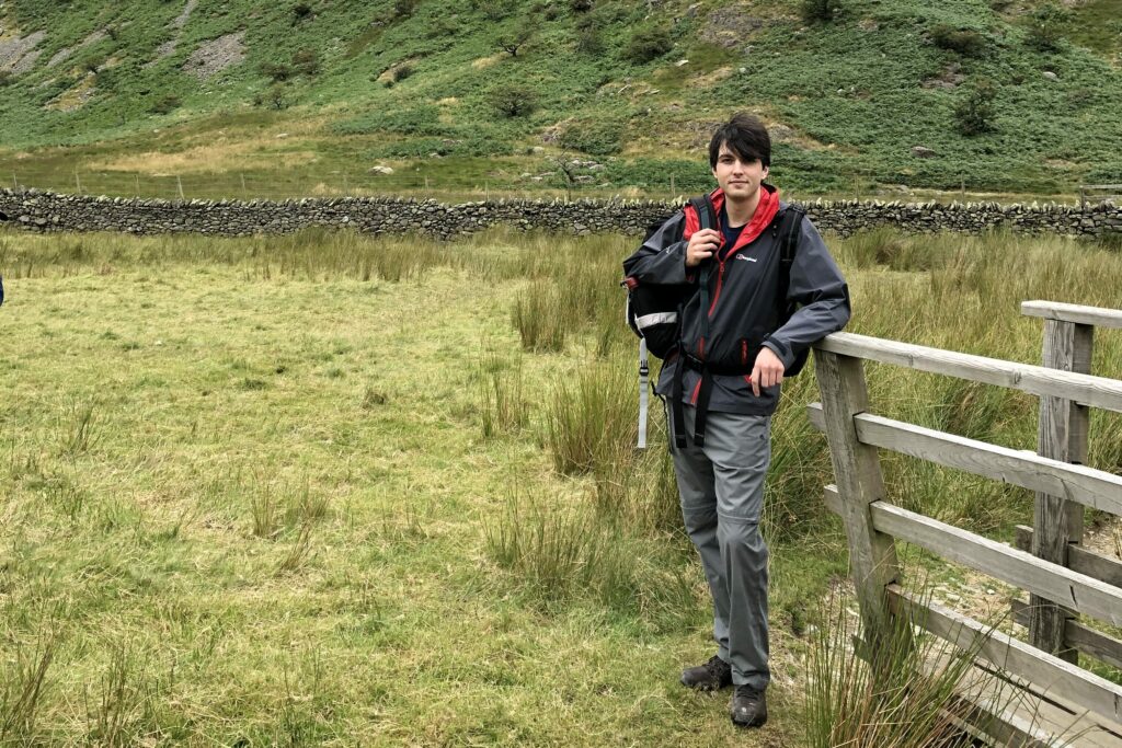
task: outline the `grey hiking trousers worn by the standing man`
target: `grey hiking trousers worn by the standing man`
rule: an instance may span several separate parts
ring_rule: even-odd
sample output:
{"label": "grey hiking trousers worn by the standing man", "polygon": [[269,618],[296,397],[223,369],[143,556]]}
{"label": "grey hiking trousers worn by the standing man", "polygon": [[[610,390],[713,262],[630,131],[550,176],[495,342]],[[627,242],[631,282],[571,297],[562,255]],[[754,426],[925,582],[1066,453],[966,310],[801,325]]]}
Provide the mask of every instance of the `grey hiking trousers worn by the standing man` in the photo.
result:
{"label": "grey hiking trousers worn by the standing man", "polygon": [[[695,414],[696,408],[684,407],[687,434],[693,433]],[[717,654],[733,666],[733,683],[766,689],[767,546],[760,515],[771,461],[771,417],[710,410],[705,446],[695,446],[691,438],[680,450],[671,438],[670,453],[686,532],[701,554],[712,593]]]}

